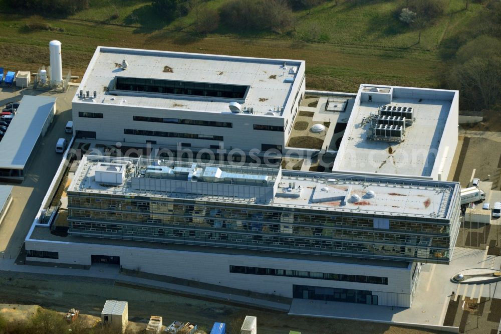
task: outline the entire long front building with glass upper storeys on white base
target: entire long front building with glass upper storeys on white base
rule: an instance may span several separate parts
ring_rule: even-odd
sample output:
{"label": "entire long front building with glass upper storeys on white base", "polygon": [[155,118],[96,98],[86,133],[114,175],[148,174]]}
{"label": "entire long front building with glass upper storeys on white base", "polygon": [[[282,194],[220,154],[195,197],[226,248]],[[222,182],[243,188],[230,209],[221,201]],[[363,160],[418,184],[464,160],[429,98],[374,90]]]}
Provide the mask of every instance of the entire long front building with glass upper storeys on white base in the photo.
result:
{"label": "entire long front building with glass upper storeys on white base", "polygon": [[409,307],[459,228],[459,184],[397,177],[85,155],[67,194],[68,236],[34,225],[27,261],[295,298]]}

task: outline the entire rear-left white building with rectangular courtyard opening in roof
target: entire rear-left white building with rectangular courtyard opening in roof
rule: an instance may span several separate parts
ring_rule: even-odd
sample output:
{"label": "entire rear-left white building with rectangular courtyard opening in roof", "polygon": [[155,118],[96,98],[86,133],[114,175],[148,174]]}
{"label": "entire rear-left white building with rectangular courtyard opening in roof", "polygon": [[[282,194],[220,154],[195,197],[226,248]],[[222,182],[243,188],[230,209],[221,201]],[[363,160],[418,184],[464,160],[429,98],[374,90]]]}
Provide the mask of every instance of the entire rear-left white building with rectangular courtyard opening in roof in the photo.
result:
{"label": "entire rear-left white building with rectangular courtyard opening in roof", "polygon": [[98,47],[72,101],[76,137],[282,151],[305,62]]}

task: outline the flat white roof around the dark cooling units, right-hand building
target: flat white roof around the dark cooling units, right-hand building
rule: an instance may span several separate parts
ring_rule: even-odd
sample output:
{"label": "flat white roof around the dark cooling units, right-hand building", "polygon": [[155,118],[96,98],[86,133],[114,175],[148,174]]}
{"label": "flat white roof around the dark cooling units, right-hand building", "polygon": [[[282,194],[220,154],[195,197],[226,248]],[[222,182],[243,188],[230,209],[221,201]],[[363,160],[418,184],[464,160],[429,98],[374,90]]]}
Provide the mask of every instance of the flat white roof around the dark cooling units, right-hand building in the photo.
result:
{"label": "flat white roof around the dark cooling units, right-hand building", "polygon": [[[377,90],[377,91],[375,91]],[[390,102],[362,101],[362,93],[390,94]],[[386,175],[431,175],[445,125],[457,91],[396,86],[361,85],[332,170]],[[361,102],[362,101],[362,102]],[[367,138],[363,124],[383,106],[412,107],[414,120],[405,126],[403,141]]]}

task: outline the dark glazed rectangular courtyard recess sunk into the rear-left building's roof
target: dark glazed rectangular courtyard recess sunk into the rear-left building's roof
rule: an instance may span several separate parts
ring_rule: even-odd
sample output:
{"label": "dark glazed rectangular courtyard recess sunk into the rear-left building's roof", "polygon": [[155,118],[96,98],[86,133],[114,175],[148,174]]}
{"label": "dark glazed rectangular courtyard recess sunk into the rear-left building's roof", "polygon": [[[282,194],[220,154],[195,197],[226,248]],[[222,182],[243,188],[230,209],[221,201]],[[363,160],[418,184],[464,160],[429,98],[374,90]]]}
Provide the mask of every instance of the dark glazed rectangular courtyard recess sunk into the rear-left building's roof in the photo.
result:
{"label": "dark glazed rectangular courtyard recess sunk into the rear-left building's roof", "polygon": [[248,86],[117,77],[118,90],[243,99]]}

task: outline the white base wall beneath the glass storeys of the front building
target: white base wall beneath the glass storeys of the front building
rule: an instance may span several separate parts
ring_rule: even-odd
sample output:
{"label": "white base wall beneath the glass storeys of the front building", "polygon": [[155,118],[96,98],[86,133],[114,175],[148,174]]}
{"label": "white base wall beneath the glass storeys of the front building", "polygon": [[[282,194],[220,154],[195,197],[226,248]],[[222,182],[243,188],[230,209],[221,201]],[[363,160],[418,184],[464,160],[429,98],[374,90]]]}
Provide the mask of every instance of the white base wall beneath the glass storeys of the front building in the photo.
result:
{"label": "white base wall beneath the glass storeys of the front building", "polygon": [[[292,297],[292,285],[298,284],[377,291],[383,293],[381,294],[382,305],[408,307],[411,299],[410,266],[395,268],[265,256],[117,247],[100,244],[53,243],[37,240],[27,240],[26,249],[59,252],[57,260],[27,257],[27,261],[91,265],[91,255],[93,254],[119,256],[120,264],[125,269],[139,269],[158,275],[286,297]],[[230,265],[381,276],[388,277],[388,285],[230,273]],[[395,293],[399,293],[400,296],[393,296]]]}

